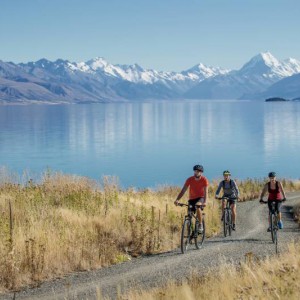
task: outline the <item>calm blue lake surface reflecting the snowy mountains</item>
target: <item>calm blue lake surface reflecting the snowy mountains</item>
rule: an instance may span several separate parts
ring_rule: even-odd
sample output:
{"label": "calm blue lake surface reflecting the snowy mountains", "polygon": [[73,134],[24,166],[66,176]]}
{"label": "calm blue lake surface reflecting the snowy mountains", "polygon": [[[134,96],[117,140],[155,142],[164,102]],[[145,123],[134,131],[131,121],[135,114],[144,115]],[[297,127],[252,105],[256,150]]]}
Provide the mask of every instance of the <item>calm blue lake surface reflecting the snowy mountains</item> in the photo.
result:
{"label": "calm blue lake surface reflecting the snowy mountains", "polygon": [[209,179],[300,177],[300,103],[177,101],[0,106],[0,166],[47,168],[122,186],[182,185],[192,166]]}

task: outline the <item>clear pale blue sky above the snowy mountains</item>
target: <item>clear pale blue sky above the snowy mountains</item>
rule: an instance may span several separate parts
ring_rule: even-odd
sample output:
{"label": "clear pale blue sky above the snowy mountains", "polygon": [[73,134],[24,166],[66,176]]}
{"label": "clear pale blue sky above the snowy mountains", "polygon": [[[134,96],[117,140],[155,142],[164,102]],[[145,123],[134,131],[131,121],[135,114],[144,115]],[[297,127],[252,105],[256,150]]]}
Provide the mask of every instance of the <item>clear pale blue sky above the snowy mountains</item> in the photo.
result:
{"label": "clear pale blue sky above the snowy mountains", "polygon": [[299,0],[1,0],[0,60],[42,57],[181,71],[300,59]]}

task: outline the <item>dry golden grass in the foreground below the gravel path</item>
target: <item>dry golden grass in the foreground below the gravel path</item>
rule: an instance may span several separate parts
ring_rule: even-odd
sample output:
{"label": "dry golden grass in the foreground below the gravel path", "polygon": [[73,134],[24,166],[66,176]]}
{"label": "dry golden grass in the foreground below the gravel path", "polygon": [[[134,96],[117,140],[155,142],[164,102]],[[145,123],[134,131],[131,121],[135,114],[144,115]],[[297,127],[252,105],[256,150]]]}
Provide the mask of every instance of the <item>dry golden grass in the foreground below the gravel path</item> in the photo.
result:
{"label": "dry golden grass in the foreground below the gravel path", "polygon": [[192,276],[181,284],[169,283],[163,289],[131,292],[128,300],[196,300],[196,299],[299,299],[300,244],[289,245],[280,257],[264,261],[255,258],[238,268],[231,264],[206,276]]}

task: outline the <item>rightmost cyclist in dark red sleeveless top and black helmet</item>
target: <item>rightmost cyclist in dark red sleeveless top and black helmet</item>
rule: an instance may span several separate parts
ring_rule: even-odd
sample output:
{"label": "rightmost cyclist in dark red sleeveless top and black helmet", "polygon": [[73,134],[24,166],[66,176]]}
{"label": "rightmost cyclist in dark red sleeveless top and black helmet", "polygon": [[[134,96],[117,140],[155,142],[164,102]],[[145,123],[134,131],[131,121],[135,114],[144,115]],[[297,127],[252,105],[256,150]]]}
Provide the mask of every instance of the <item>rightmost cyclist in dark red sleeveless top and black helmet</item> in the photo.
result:
{"label": "rightmost cyclist in dark red sleeveless top and black helmet", "polygon": [[[283,228],[283,223],[281,220],[281,212],[280,212],[280,208],[281,208],[281,204],[282,202],[286,201],[286,197],[285,197],[285,192],[283,190],[283,186],[281,184],[281,182],[276,180],[276,172],[270,172],[268,174],[269,177],[269,182],[267,182],[261,192],[260,195],[260,203],[263,203],[263,198],[264,195],[266,194],[266,192],[269,193],[268,196],[268,207],[269,207],[269,211],[272,209],[271,203],[273,201],[275,201],[275,210],[278,214],[278,228],[282,229]],[[267,230],[268,232],[271,231],[271,226],[270,226],[270,215],[269,215],[269,228]]]}

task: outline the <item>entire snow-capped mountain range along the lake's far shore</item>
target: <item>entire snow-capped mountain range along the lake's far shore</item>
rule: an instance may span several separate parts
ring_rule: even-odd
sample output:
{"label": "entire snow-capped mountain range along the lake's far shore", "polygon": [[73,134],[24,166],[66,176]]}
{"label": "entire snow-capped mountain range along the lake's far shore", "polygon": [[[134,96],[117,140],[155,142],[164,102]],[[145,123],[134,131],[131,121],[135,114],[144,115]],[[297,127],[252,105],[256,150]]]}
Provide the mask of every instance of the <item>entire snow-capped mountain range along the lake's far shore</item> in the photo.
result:
{"label": "entire snow-capped mountain range along the lake's far shore", "polygon": [[182,72],[113,65],[101,57],[87,62],[0,61],[0,103],[94,103],[144,99],[263,99],[300,96],[300,62],[270,52],[240,70],[202,63]]}

